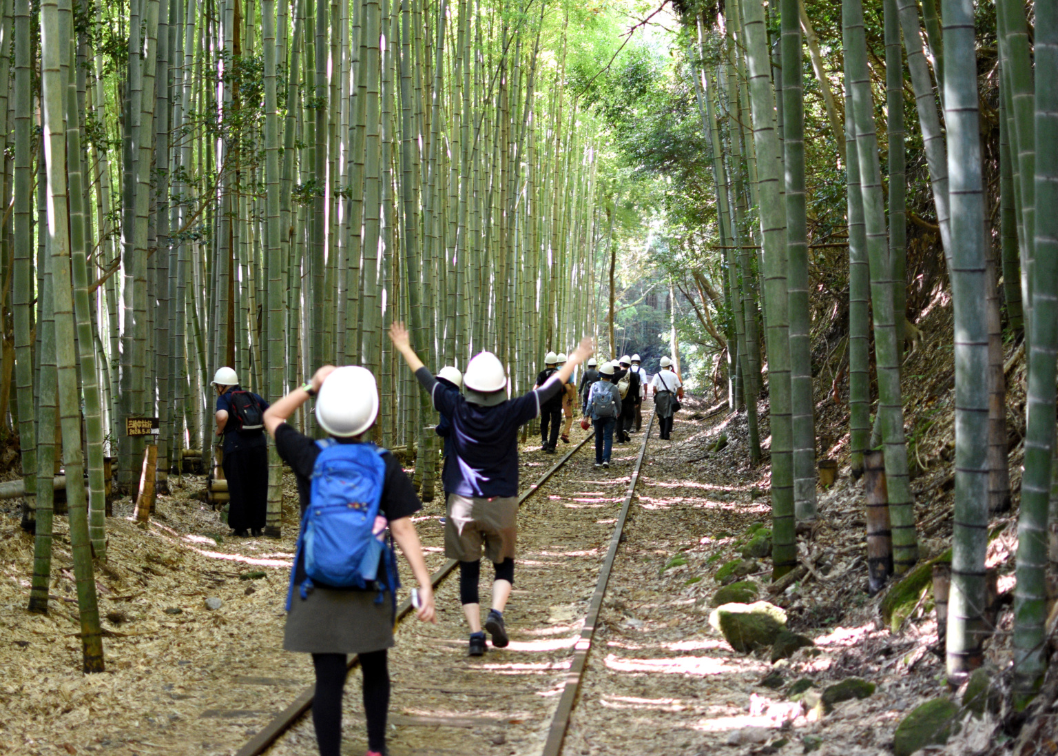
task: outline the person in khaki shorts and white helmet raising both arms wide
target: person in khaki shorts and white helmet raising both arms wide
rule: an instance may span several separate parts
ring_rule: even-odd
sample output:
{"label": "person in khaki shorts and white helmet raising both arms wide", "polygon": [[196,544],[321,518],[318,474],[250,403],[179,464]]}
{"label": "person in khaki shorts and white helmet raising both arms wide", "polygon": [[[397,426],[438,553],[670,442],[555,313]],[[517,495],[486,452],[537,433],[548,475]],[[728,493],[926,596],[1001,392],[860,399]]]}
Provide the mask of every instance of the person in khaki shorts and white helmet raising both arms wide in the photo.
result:
{"label": "person in khaki shorts and white helmet raising both arms wide", "polygon": [[[537,417],[548,399],[559,396],[573,367],[591,356],[591,340],[582,340],[566,364],[544,385],[508,399],[507,373],[491,352],[482,352],[468,363],[460,395],[439,383],[425,368],[412,348],[403,323],[393,325],[389,338],[430,394],[434,408],[452,422],[452,447],[458,464],[449,465],[445,470],[444,487],[450,493],[444,555],[459,562],[459,600],[471,631],[469,654],[480,656],[486,651],[478,592],[482,548],[495,569],[485,630],[492,635],[496,648],[510,642],[504,609],[514,584],[518,428]],[[548,357],[557,359],[558,355]]]}

